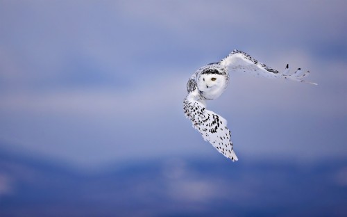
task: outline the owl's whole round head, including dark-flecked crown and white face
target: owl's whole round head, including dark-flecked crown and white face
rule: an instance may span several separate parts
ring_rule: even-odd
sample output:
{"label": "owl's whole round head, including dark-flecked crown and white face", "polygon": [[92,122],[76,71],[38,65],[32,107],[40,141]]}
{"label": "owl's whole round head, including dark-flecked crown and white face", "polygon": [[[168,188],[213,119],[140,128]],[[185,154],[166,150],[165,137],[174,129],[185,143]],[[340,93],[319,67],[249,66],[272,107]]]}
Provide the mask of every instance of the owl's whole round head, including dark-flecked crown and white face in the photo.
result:
{"label": "owl's whole round head, including dark-flecked crown and white face", "polygon": [[229,81],[226,67],[212,63],[202,67],[199,71],[196,84],[203,99],[215,99],[226,90]]}

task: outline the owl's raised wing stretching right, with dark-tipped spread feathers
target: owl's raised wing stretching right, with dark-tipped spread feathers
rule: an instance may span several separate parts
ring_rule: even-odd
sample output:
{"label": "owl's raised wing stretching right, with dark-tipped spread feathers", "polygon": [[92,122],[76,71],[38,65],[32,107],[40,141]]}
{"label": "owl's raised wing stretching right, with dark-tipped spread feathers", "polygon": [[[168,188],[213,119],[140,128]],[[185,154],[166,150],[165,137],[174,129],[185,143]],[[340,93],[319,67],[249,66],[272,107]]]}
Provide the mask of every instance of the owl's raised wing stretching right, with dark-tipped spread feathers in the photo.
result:
{"label": "owl's raised wing stretching right, with dark-tipped spread feathers", "polygon": [[287,64],[283,72],[278,72],[278,70],[273,70],[271,67],[267,67],[264,63],[255,60],[244,51],[236,49],[226,56],[226,58],[223,58],[219,64],[226,66],[229,72],[248,72],[254,76],[284,78],[316,85],[316,83],[303,80],[304,77],[307,77],[307,75],[310,74],[310,71],[304,72],[301,68],[298,68],[296,72],[291,74],[289,65]]}

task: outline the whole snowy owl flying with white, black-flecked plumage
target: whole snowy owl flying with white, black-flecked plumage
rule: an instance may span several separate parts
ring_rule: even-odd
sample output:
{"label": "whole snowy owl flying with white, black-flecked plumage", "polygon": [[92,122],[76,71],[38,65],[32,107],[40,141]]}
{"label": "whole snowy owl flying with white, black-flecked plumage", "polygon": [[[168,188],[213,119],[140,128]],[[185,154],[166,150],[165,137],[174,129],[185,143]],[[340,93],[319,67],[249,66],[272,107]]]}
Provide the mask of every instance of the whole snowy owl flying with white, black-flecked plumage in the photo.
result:
{"label": "whole snowy owl flying with white, black-flecked plumage", "polygon": [[[231,54],[217,63],[210,63],[198,69],[187,83],[188,95],[183,102],[186,118],[192,121],[193,127],[208,140],[221,154],[237,161],[232,150],[230,130],[227,121],[206,109],[206,100],[218,98],[229,83],[229,72],[248,72],[255,76],[283,78],[305,83],[303,78],[310,74],[298,68],[293,74],[289,73],[289,65],[280,73],[258,62],[243,51],[234,50]],[[316,85],[316,83],[312,83]]]}

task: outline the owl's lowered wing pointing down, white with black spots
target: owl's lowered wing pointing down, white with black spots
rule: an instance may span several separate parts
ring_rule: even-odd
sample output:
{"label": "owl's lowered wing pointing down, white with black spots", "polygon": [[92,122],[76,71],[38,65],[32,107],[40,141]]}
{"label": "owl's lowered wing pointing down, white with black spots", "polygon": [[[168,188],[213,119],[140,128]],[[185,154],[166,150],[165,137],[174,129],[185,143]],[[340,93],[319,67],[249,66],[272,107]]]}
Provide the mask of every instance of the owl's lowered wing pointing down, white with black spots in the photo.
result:
{"label": "owl's lowered wing pointing down, white with black spots", "polygon": [[197,96],[198,90],[194,90],[185,98],[183,109],[186,117],[192,121],[193,127],[201,136],[221,154],[232,161],[237,161],[237,156],[232,150],[231,134],[226,126],[226,120],[221,115],[205,109],[205,105],[196,98]]}

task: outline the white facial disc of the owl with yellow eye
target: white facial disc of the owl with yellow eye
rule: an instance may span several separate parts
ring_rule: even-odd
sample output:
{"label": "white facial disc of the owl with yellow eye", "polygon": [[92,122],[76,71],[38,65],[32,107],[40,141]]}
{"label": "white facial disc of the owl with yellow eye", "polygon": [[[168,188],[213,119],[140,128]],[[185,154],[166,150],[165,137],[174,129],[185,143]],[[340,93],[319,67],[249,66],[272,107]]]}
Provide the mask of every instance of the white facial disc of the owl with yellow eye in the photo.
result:
{"label": "white facial disc of the owl with yellow eye", "polygon": [[228,85],[226,74],[201,73],[198,77],[197,86],[200,95],[205,99],[214,99],[219,97]]}

